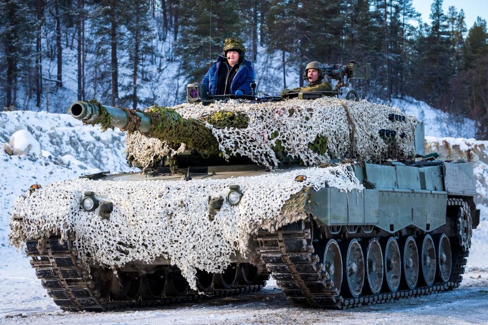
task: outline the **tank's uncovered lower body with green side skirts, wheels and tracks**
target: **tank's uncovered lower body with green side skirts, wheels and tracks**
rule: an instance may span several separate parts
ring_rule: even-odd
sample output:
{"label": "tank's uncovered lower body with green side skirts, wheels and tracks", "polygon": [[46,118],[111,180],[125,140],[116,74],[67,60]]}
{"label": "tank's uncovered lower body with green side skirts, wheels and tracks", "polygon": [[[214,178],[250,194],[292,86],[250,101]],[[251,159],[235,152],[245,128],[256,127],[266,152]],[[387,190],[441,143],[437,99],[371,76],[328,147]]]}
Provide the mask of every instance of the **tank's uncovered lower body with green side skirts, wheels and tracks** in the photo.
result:
{"label": "tank's uncovered lower body with green side skirts, wheels and tracks", "polygon": [[[267,173],[258,167],[240,172],[227,168],[209,168],[193,178]],[[74,232],[64,239],[56,232],[28,240],[25,251],[49,296],[69,311],[202,300],[198,291],[206,297],[249,293],[265,285],[269,275],[292,304],[317,308],[382,303],[459,286],[471,229],[479,222],[472,166],[443,161],[411,166],[361,163],[353,170],[369,188],[341,192],[304,187],[282,207],[284,214],[293,211],[303,218],[277,230],[258,231],[250,239],[250,253],[236,252],[230,269],[197,273],[198,290],[190,289],[164,256],[151,263],[126,263],[116,272],[98,263],[87,267],[78,258]],[[146,176],[102,178],[117,182],[140,177]],[[171,182],[189,176],[151,177]]]}

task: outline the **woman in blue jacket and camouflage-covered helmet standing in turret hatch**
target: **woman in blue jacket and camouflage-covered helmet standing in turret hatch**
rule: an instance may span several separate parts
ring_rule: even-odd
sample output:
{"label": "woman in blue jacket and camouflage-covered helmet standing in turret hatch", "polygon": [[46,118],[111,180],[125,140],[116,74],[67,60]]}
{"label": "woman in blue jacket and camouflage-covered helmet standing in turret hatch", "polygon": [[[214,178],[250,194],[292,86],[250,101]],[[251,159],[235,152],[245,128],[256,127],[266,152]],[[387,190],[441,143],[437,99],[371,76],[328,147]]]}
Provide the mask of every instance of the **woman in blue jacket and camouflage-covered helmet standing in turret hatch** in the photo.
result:
{"label": "woman in blue jacket and camouflage-covered helmet standing in turret hatch", "polygon": [[251,83],[255,73],[251,62],[244,58],[246,48],[237,39],[226,39],[222,56],[203,77],[210,95],[234,94],[240,98],[243,94],[252,94]]}

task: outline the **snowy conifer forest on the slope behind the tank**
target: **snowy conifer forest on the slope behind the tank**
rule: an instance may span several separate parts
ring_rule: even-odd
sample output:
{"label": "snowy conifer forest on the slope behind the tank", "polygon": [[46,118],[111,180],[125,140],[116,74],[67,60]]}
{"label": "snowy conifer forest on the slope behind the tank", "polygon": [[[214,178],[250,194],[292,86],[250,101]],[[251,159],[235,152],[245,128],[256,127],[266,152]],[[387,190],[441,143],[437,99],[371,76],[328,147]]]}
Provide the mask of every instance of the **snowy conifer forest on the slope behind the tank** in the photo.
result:
{"label": "snowy conifer forest on the slope behind the tank", "polygon": [[303,84],[307,62],[371,63],[353,85],[476,121],[488,139],[488,32],[434,0],[2,0],[0,105],[66,112],[76,100],[143,108],[185,100],[225,38],[246,46],[258,89]]}

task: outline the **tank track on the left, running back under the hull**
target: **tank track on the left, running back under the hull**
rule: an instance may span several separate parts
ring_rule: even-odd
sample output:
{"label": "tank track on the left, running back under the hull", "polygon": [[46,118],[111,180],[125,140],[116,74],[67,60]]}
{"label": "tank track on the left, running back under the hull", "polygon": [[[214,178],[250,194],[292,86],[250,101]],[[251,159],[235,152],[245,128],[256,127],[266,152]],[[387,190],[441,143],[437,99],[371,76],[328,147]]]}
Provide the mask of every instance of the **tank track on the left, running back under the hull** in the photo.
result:
{"label": "tank track on the left, running back under the hull", "polygon": [[[204,291],[204,295],[189,292],[178,296],[167,296],[160,299],[112,300],[101,298],[96,281],[90,279],[89,272],[81,265],[78,250],[73,244],[74,236],[60,242],[60,236],[51,236],[39,241],[27,241],[25,252],[32,257],[31,265],[47,289],[49,297],[64,311],[96,311],[169,305],[182,302],[203,301],[214,297],[228,297],[259,291],[264,284],[235,285],[228,289]],[[263,277],[259,278],[262,280]]]}

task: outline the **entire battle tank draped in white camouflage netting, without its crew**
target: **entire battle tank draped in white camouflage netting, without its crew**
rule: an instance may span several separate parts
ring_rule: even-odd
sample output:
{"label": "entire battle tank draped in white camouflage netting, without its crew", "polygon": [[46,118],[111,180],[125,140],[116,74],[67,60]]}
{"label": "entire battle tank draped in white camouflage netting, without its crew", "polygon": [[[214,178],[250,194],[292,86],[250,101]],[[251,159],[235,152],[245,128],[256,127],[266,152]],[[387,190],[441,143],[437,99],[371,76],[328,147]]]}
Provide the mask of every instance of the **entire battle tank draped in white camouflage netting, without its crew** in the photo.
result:
{"label": "entire battle tank draped in white camouflage netting, without its crew", "polygon": [[11,242],[63,310],[220,299],[270,275],[293,305],[334,309],[462,281],[479,223],[473,167],[425,155],[423,124],[398,109],[231,99],[69,113],[127,131],[141,172],[18,199]]}

